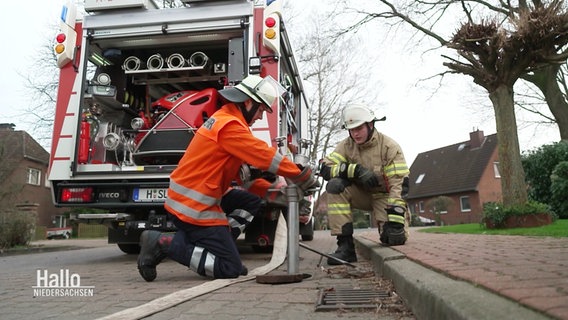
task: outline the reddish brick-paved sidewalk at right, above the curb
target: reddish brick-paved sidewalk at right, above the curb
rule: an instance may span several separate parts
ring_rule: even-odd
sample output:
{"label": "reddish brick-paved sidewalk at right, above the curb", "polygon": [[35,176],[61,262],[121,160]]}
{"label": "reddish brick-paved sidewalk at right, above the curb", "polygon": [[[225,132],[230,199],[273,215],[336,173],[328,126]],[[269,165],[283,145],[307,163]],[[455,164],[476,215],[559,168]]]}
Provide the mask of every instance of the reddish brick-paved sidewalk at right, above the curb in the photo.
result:
{"label": "reddish brick-paved sidewalk at right, above the curb", "polygon": [[[378,242],[378,233],[361,234]],[[433,234],[411,229],[412,261],[482,286],[531,309],[568,319],[568,238]]]}

